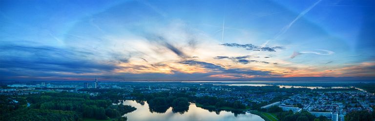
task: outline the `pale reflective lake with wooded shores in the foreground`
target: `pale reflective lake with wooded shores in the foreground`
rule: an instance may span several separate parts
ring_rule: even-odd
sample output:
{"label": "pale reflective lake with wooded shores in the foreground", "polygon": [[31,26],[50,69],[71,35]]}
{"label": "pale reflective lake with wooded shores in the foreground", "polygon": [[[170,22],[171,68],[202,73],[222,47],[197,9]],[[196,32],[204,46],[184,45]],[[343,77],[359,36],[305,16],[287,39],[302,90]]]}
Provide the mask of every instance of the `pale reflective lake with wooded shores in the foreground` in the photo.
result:
{"label": "pale reflective lake with wooded shores in the foreground", "polygon": [[125,101],[124,104],[137,108],[124,115],[127,121],[264,121],[259,116],[247,112],[235,116],[234,113],[228,111],[210,112],[195,104],[190,104],[189,109],[184,113],[173,113],[171,107],[165,113],[150,112],[146,102],[142,105],[136,101]]}

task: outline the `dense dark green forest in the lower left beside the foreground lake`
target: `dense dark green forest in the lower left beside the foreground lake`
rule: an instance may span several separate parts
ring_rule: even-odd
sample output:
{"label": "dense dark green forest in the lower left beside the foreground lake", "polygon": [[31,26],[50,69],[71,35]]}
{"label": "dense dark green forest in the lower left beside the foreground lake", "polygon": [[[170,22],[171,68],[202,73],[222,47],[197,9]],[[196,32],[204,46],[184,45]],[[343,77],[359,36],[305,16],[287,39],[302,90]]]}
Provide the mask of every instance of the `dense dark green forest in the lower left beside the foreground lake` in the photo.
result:
{"label": "dense dark green forest in the lower left beside the foreground lake", "polygon": [[[136,110],[130,105],[112,105],[111,100],[97,99],[90,97],[87,94],[77,93],[43,93],[38,95],[30,95],[26,98],[31,103],[30,107],[7,111],[7,114],[1,116],[4,121],[19,121],[24,115],[31,116],[34,121],[60,121],[51,117],[60,117],[59,119],[67,119],[65,121],[81,121],[83,118],[94,118],[98,120],[106,120],[109,118],[118,118],[125,113]],[[51,113],[48,113],[51,112]],[[39,117],[45,117],[40,119]],[[17,119],[17,120],[13,120]],[[118,120],[125,120],[125,118],[118,118]],[[26,120],[30,121],[30,120]],[[33,121],[33,120],[31,120]]]}

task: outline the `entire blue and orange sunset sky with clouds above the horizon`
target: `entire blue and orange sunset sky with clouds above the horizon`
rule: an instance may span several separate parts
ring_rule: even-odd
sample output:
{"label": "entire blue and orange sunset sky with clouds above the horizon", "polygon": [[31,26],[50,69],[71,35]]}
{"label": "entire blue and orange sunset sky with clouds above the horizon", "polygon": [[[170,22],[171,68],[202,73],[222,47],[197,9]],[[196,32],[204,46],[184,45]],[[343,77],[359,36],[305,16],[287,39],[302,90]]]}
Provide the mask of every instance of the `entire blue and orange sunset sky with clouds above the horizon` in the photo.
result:
{"label": "entire blue and orange sunset sky with clouds above the horizon", "polygon": [[0,0],[0,80],[374,80],[375,0]]}

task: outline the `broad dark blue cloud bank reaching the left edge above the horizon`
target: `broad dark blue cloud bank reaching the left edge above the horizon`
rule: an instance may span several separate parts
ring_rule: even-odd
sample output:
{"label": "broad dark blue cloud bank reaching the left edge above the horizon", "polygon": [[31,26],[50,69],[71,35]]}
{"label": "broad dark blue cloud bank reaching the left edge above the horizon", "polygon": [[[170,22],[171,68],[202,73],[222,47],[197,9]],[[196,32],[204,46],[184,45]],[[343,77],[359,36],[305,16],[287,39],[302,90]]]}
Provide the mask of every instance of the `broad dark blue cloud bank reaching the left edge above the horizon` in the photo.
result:
{"label": "broad dark blue cloud bank reaching the left edge above the horizon", "polygon": [[0,51],[7,52],[0,55],[0,69],[6,70],[90,73],[119,69],[116,63],[90,58],[95,56],[92,52],[74,49],[9,44],[0,46]]}

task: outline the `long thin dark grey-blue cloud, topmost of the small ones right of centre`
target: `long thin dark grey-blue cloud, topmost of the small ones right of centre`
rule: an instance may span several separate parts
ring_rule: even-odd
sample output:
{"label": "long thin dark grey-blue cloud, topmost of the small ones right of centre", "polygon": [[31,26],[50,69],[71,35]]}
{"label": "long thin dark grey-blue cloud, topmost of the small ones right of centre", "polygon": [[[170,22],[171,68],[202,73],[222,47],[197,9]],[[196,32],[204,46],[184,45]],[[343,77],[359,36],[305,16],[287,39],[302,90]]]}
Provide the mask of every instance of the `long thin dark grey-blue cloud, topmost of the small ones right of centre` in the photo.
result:
{"label": "long thin dark grey-blue cloud, topmost of the small ones right of centre", "polygon": [[249,51],[268,51],[268,52],[276,52],[276,50],[283,50],[285,49],[284,47],[261,47],[261,46],[256,46],[252,44],[237,44],[237,43],[224,43],[221,44],[222,46],[227,46],[227,47],[237,47],[237,48],[245,48],[246,50]]}

